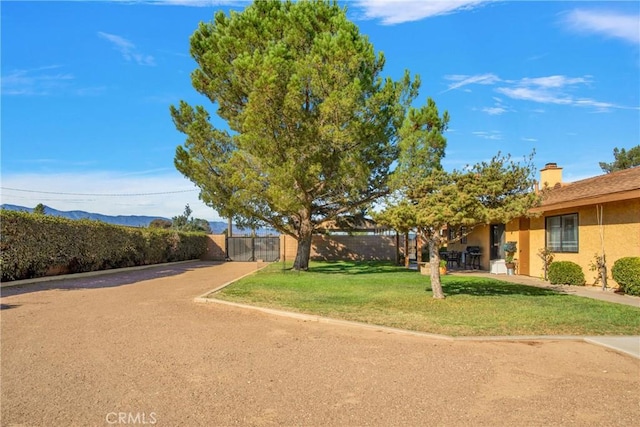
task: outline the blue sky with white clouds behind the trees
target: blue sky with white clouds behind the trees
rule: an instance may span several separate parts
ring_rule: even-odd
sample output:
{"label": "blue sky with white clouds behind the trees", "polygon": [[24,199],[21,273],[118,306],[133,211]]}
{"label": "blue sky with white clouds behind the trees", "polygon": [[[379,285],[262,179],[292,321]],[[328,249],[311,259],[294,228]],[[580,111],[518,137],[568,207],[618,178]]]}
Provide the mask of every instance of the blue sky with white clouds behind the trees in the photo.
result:
{"label": "blue sky with white clouds behind the trees", "polygon": [[[341,2],[385,53],[419,74],[419,102],[451,115],[445,167],[498,151],[602,173],[640,143],[637,1]],[[111,215],[218,219],[173,166],[169,106],[205,105],[189,37],[234,1],[2,1],[2,203]],[[159,194],[162,193],[162,194]]]}

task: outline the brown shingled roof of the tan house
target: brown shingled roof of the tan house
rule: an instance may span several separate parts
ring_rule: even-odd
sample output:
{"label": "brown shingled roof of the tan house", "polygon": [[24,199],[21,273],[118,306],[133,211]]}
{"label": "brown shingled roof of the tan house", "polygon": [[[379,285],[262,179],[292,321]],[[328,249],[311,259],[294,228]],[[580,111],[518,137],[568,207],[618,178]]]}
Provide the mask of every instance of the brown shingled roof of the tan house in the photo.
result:
{"label": "brown shingled roof of the tan house", "polygon": [[545,191],[532,212],[586,206],[640,198],[640,167],[583,179]]}

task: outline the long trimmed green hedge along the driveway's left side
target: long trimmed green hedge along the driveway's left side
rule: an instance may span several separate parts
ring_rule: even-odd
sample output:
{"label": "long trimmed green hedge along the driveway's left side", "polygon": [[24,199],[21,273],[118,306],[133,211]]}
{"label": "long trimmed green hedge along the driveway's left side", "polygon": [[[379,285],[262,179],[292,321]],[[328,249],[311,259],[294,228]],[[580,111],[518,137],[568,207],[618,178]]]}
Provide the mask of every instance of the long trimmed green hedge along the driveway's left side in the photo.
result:
{"label": "long trimmed green hedge along the driveway's left side", "polygon": [[200,258],[206,236],[0,211],[2,281]]}

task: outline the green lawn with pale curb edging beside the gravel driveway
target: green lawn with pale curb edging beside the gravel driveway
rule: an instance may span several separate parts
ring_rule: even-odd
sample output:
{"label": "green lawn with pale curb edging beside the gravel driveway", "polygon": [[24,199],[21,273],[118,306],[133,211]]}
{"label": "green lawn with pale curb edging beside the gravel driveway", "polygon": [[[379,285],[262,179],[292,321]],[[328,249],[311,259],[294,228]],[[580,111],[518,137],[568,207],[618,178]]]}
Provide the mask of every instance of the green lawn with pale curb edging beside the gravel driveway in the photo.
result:
{"label": "green lawn with pale curb edging beside the gravel driveway", "polygon": [[276,263],[210,298],[450,336],[638,335],[640,308],[494,279],[428,276],[385,263]]}

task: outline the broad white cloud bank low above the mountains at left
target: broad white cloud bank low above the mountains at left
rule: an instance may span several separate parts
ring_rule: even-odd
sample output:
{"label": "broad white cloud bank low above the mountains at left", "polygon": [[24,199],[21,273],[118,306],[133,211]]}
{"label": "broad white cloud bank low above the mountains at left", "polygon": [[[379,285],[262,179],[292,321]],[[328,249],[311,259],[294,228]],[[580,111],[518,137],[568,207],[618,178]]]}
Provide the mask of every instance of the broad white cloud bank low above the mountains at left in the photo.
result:
{"label": "broad white cloud bank low above the mountains at left", "polygon": [[[163,172],[163,173],[159,173]],[[22,191],[17,191],[22,190]],[[68,211],[105,215],[149,215],[171,218],[188,203],[193,216],[209,221],[219,215],[198,199],[199,189],[176,172],[77,172],[2,175],[4,204],[34,207],[43,203]]]}

